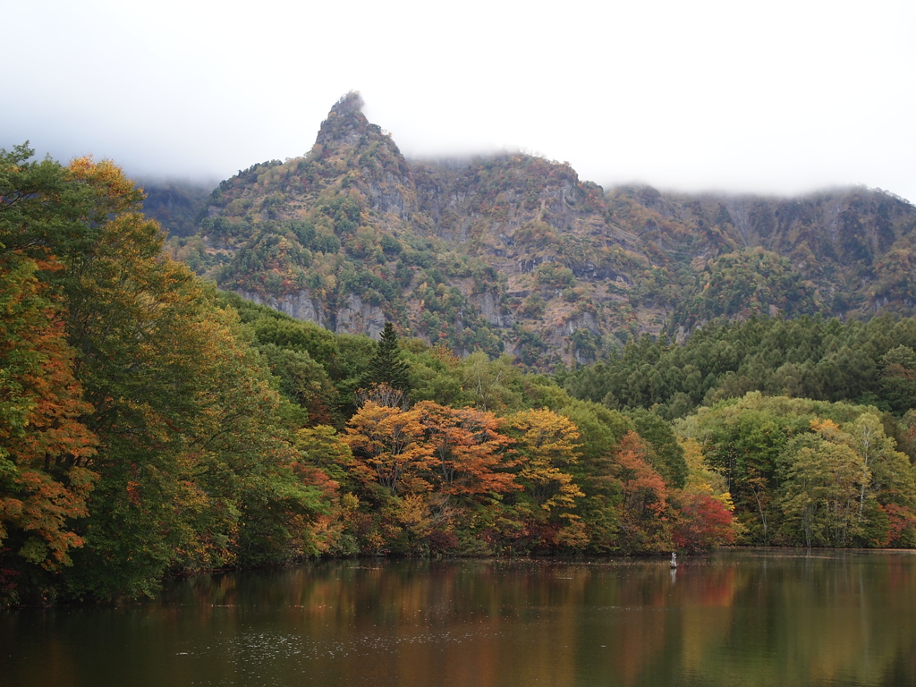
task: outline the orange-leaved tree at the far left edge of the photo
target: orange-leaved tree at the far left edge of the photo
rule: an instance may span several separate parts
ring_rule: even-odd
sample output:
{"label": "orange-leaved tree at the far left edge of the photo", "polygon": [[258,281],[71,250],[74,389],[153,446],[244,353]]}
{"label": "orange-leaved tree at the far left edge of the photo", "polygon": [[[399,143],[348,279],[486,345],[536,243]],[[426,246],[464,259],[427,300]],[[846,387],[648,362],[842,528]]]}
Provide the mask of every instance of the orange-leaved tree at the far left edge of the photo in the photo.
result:
{"label": "orange-leaved tree at the far left edge of the photo", "polygon": [[[0,567],[23,562],[52,571],[82,546],[71,528],[88,514],[96,438],[81,421],[92,410],[72,375],[60,306],[38,281],[38,263],[0,251]],[[15,581],[7,581],[9,589]]]}

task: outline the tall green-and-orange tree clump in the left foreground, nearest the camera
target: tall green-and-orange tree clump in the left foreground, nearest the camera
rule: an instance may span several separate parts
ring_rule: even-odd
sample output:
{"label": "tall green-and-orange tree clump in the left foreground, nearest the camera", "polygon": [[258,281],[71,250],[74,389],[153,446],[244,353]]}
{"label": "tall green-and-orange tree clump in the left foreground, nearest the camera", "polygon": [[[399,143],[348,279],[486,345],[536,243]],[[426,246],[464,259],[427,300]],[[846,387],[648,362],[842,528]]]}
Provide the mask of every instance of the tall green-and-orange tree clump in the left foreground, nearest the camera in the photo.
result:
{"label": "tall green-and-orange tree clump in the left foreground, nearest the camera", "polygon": [[319,495],[237,316],[162,254],[120,169],[29,154],[0,165],[14,597],[136,595],[169,571],[309,552]]}

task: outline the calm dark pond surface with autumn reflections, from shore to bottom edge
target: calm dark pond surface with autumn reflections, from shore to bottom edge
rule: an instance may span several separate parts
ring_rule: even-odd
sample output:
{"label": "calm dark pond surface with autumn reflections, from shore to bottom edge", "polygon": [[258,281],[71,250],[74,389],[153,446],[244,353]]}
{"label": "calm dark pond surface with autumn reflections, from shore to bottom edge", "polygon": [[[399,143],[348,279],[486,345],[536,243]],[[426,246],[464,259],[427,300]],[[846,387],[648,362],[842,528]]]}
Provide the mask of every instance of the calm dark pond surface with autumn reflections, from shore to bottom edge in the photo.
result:
{"label": "calm dark pond surface with autumn reflections, from shore to bottom edge", "polygon": [[318,563],[0,613],[0,685],[916,685],[916,555]]}

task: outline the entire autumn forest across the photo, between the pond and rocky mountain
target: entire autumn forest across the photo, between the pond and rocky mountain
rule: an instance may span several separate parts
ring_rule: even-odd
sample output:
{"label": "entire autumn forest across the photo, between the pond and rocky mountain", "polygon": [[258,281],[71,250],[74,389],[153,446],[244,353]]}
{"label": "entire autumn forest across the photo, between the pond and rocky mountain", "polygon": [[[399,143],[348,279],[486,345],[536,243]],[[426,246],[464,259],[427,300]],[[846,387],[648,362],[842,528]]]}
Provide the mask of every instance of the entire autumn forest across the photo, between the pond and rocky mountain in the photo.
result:
{"label": "entire autumn forest across the photo, between the pond and rocky mountain", "polygon": [[217,290],[142,202],[110,161],[0,153],[0,605],[317,556],[916,545],[911,318],[536,374]]}

